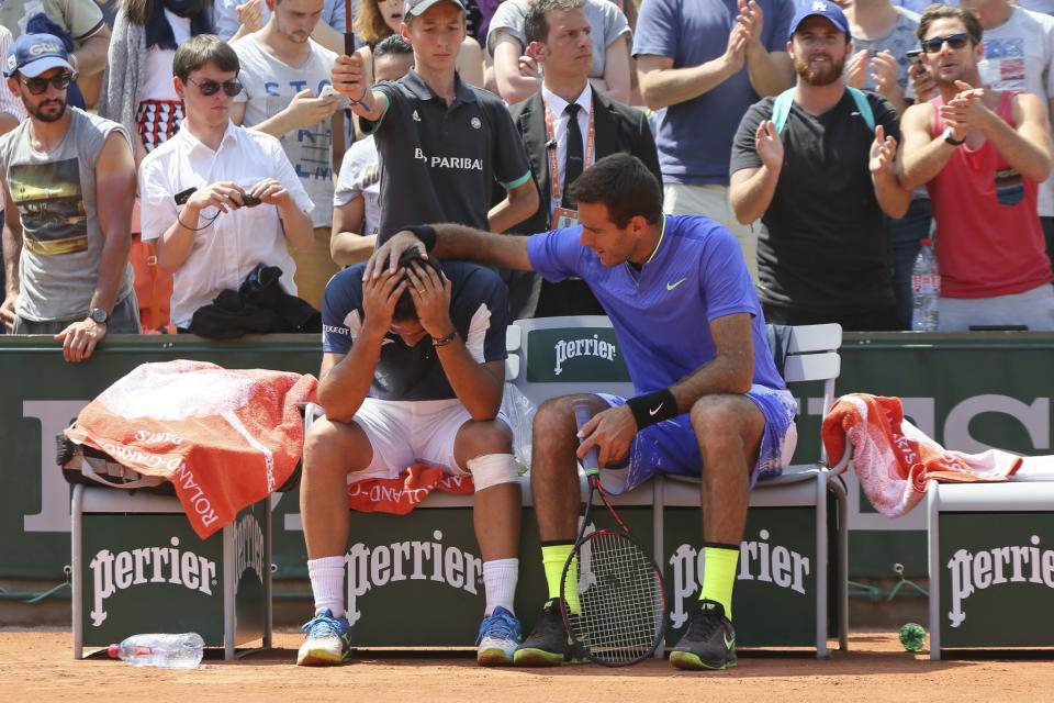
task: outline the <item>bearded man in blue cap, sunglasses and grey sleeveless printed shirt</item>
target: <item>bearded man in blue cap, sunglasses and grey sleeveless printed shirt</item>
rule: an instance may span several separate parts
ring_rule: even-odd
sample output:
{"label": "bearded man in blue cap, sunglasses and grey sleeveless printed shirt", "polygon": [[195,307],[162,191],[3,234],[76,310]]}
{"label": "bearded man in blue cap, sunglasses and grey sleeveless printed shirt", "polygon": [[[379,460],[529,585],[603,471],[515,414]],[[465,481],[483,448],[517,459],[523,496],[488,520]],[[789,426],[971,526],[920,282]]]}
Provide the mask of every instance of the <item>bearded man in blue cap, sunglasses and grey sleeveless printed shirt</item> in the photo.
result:
{"label": "bearded man in blue cap, sunglasses and grey sleeveless printed shirt", "polygon": [[[23,34],[4,57],[29,119],[0,138],[7,290],[14,334],[52,334],[67,361],[108,333],[139,332],[128,266],[135,165],[115,122],[67,104],[76,77],[61,40]],[[105,203],[105,207],[99,207]]]}

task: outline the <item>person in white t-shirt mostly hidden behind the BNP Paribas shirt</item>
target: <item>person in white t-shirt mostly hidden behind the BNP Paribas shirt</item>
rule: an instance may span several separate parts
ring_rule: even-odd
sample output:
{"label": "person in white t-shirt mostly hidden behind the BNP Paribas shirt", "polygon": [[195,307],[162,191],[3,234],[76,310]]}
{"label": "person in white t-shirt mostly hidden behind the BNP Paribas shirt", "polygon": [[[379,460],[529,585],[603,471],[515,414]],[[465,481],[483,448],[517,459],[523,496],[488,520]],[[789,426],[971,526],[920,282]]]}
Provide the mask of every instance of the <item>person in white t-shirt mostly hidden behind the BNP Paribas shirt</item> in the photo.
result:
{"label": "person in white t-shirt mostly hidden behind the BNP Paribas shirt", "polygon": [[[373,76],[399,80],[414,65],[414,47],[399,34],[373,47]],[[333,237],[329,253],[339,266],[365,261],[373,253],[381,225],[381,164],[373,136],[351,145],[344,155],[333,194]]]}

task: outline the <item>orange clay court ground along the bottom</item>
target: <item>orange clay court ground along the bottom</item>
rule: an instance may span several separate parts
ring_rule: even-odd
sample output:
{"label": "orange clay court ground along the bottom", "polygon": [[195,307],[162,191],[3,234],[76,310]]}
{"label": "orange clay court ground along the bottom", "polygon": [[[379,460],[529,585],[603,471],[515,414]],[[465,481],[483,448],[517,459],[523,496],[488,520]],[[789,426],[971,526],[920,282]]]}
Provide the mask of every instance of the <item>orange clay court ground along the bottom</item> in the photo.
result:
{"label": "orange clay court ground along the bottom", "polygon": [[1043,701],[1054,691],[1054,652],[989,654],[930,661],[892,634],[855,634],[828,661],[744,652],[737,669],[697,674],[665,661],[626,669],[484,670],[466,652],[360,651],[335,669],[293,666],[302,635],[235,662],[209,658],[192,671],[74,661],[63,632],[0,631],[0,701]]}

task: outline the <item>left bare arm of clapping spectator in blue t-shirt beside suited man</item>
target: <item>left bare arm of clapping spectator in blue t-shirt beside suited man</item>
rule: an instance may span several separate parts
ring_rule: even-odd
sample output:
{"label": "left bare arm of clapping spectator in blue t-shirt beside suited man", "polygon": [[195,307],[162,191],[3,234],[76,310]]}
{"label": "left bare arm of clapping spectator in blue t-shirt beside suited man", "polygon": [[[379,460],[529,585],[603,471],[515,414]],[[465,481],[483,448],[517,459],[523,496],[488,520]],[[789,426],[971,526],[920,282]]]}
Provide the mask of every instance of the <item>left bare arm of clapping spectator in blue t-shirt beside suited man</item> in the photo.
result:
{"label": "left bare arm of clapping spectator in blue t-shirt beside suited man", "polygon": [[738,74],[745,59],[747,35],[738,24],[728,35],[725,53],[699,66],[674,68],[672,56],[640,55],[637,57],[640,93],[652,110],[685,102]]}

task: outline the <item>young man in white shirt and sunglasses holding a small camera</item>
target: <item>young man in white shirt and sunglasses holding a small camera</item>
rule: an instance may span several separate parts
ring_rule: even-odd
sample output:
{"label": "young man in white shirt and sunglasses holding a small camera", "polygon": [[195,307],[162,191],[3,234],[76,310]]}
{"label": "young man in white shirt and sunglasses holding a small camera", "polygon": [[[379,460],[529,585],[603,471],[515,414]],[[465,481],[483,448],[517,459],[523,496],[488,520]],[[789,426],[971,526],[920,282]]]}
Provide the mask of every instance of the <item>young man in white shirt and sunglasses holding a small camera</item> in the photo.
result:
{"label": "young man in white shirt and sunglasses holding a small camera", "polygon": [[312,244],[312,203],[277,138],[231,121],[242,92],[238,56],[202,34],[176,49],[180,131],[139,168],[143,241],[173,272],[171,319],[188,330],[194,311],[223,290],[237,290],[257,265],[277,266],[279,284],[296,294],[296,265],[287,244]]}

